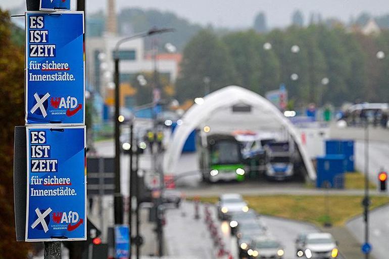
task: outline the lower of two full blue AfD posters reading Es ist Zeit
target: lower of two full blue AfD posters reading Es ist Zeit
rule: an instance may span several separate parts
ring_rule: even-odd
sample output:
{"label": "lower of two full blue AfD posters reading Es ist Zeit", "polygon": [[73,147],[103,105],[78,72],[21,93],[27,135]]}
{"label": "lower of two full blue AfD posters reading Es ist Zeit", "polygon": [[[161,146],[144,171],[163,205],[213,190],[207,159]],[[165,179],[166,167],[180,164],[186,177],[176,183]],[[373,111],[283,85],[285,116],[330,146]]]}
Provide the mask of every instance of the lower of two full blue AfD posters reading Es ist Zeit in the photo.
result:
{"label": "lower of two full blue AfD posters reading Es ist Zeit", "polygon": [[26,241],[86,240],[85,126],[27,127]]}

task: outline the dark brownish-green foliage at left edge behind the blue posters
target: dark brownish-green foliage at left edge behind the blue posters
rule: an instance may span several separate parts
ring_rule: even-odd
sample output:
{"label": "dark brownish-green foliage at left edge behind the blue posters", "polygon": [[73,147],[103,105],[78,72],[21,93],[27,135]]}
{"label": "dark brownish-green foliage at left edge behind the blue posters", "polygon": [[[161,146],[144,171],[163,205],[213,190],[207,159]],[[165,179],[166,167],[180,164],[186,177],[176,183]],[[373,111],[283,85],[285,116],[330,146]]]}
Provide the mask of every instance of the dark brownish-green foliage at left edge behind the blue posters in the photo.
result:
{"label": "dark brownish-green foliage at left edge behind the blue posters", "polygon": [[[11,41],[12,25],[7,12],[0,9],[0,258],[26,258],[28,245],[16,243],[13,199],[13,142],[15,125],[24,121],[23,47]],[[5,224],[7,223],[7,224]]]}

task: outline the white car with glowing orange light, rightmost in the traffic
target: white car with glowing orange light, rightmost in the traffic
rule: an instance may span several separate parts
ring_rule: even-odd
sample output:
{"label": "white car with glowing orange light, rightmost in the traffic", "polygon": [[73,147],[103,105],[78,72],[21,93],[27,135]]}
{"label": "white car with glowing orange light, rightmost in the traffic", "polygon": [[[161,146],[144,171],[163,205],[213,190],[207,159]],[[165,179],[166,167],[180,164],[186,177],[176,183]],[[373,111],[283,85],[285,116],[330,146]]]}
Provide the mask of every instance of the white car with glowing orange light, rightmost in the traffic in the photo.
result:
{"label": "white car with glowing orange light, rightmost in the traffic", "polygon": [[303,254],[307,259],[337,258],[339,250],[333,236],[329,233],[307,234],[302,244]]}

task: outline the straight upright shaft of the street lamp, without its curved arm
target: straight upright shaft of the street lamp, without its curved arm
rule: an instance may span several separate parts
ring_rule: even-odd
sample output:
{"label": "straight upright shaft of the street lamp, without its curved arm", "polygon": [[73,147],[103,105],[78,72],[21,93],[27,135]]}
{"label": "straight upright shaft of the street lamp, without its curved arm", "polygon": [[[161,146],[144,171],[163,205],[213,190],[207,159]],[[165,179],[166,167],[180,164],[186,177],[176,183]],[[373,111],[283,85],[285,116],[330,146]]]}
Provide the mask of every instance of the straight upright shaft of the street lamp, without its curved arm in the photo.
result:
{"label": "straight upright shaft of the street lamp, without its curved arm", "polygon": [[119,57],[117,51],[115,55],[115,225],[123,224],[123,196],[120,192],[120,122],[119,122]]}

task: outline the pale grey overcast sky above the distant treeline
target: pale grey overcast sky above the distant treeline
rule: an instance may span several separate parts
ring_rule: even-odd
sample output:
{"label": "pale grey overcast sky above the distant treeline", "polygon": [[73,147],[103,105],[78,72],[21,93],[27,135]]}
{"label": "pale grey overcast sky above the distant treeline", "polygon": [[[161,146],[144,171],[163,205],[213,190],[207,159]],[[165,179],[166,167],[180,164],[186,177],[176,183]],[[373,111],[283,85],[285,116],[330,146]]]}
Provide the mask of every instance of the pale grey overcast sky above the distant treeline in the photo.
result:
{"label": "pale grey overcast sky above the distant treeline", "polygon": [[[24,2],[0,0],[0,7],[12,8]],[[87,11],[104,9],[106,2],[86,0]],[[363,11],[373,15],[389,13],[387,0],[117,0],[117,7],[155,8],[174,12],[192,22],[230,28],[251,26],[259,11],[266,13],[270,27],[288,25],[296,9],[303,11],[306,20],[312,11],[320,12],[324,18],[337,17],[344,21]]]}

